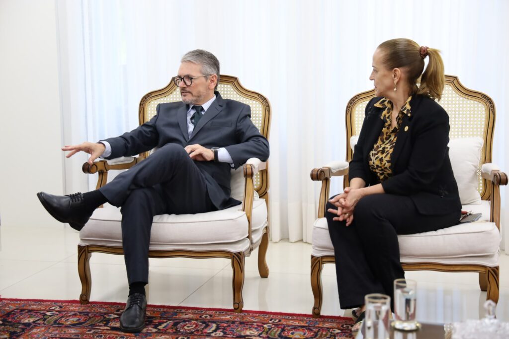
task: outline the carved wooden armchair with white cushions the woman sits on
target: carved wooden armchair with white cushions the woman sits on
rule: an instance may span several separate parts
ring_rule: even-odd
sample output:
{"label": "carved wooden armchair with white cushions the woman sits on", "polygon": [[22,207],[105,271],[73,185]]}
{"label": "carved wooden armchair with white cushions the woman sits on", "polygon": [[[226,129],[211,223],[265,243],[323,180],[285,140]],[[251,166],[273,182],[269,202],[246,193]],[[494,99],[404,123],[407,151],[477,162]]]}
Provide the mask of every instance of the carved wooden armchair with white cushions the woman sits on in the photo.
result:
{"label": "carved wooden armchair with white cushions the woman sits on", "polygon": [[[375,91],[354,96],[346,109],[347,161],[335,162],[311,172],[312,180],[322,182],[318,219],[313,227],[311,285],[315,297],[313,316],[320,317],[322,305],[321,271],[323,264],[334,262],[325,205],[329,198],[330,178],[344,176],[348,186],[348,162],[360,133],[364,109]],[[479,286],[487,299],[498,301],[498,257],[500,254],[500,186],[507,175],[492,164],[495,105],[487,95],[464,87],[457,77],[446,76],[439,104],[449,114],[449,156],[458,182],[464,210],[482,212],[475,223],[447,229],[400,235],[400,260],[405,270],[442,272],[478,272]],[[341,287],[340,287],[341,288]]]}

